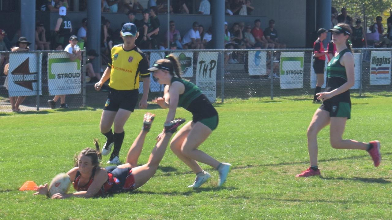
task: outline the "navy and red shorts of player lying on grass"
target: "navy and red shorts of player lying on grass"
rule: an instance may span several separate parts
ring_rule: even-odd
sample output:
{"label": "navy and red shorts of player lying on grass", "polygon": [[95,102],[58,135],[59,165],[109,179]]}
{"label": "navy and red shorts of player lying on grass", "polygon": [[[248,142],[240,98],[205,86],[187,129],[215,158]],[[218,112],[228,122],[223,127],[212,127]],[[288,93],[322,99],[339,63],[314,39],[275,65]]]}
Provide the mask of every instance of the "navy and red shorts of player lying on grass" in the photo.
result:
{"label": "navy and red shorts of player lying on grass", "polygon": [[112,188],[109,189],[109,193],[118,193],[124,191],[132,191],[135,187],[135,179],[132,175],[131,168],[117,168],[116,166],[105,167],[107,173],[113,174],[118,182],[115,182]]}

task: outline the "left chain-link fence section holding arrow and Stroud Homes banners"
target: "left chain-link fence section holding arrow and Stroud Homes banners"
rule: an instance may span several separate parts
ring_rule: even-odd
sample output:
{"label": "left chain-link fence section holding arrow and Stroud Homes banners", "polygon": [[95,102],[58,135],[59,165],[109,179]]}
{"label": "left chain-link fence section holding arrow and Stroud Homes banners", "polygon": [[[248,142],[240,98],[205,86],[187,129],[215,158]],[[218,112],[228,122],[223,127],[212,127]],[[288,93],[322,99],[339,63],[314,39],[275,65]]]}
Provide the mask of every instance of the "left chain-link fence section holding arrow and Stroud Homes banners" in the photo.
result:
{"label": "left chain-link fence section holding arrow and Stroud Homes banners", "polygon": [[2,52],[0,112],[84,106],[84,51],[80,58],[65,51]]}

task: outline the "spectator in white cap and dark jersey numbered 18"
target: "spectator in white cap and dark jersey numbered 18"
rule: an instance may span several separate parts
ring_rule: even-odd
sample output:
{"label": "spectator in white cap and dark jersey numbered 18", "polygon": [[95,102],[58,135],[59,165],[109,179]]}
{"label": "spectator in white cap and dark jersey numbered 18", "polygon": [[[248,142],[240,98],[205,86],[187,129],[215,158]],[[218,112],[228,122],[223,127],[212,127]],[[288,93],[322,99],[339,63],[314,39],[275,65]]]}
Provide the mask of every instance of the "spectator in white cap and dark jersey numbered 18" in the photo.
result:
{"label": "spectator in white cap and dark jersey numbered 18", "polygon": [[71,20],[66,16],[67,9],[64,6],[60,7],[58,13],[60,18],[57,19],[56,27],[54,28],[54,31],[57,32],[56,43],[61,43],[65,47],[68,38],[71,36],[72,24]]}

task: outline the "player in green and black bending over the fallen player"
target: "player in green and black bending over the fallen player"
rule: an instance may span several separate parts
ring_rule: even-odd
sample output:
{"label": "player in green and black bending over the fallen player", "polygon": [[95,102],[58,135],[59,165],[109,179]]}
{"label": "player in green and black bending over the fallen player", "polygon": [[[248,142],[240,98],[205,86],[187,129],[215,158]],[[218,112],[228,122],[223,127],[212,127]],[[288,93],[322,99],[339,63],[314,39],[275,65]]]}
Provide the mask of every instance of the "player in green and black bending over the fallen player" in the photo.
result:
{"label": "player in green and black bending over the fallen player", "polygon": [[221,163],[198,149],[218,126],[218,112],[200,88],[181,78],[180,62],[173,54],[157,60],[148,70],[154,72],[158,83],[166,85],[163,97],[152,100],[162,108],[169,108],[166,121],[174,119],[177,106],[185,108],[193,115],[192,121],[183,126],[170,143],[171,150],[196,174],[194,183],[189,187],[198,188],[211,177],[207,171],[201,169],[197,161],[218,170],[218,186],[221,186],[226,181],[231,164]]}

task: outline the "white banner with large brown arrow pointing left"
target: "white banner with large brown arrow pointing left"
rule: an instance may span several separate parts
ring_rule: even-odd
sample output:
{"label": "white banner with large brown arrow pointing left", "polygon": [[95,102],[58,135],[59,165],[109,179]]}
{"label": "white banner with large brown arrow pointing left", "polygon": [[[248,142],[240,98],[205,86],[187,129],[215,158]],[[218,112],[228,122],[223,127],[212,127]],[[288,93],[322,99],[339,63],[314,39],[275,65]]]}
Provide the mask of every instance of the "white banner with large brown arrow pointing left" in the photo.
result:
{"label": "white banner with large brown arrow pointing left", "polygon": [[9,54],[8,94],[13,96],[36,96],[37,90],[42,95],[41,70],[38,67],[37,54],[16,52]]}

